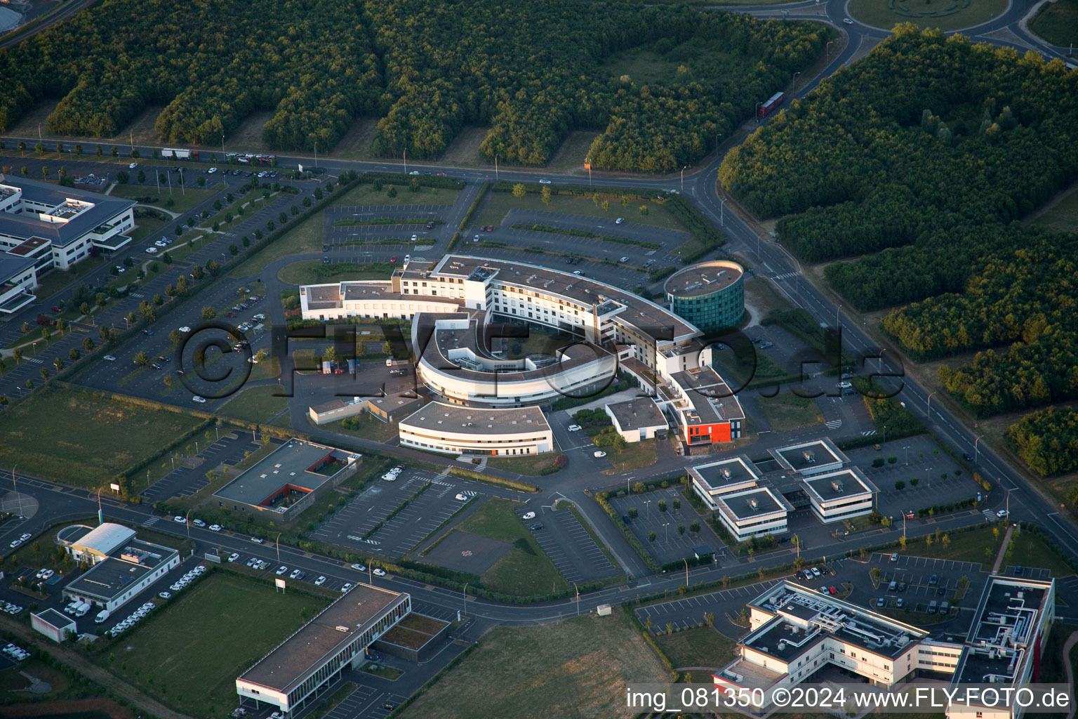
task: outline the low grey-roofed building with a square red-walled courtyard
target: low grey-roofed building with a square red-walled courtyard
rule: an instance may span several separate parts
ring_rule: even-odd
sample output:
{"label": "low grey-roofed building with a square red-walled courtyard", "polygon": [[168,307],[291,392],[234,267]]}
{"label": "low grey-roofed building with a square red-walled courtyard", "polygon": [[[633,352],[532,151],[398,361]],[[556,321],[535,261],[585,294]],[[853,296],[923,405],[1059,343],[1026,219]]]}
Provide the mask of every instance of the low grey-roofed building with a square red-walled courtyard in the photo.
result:
{"label": "low grey-roofed building with a square red-walled courtyard", "polygon": [[290,522],[351,476],[361,460],[354,452],[292,438],[213,493],[213,498],[220,507]]}

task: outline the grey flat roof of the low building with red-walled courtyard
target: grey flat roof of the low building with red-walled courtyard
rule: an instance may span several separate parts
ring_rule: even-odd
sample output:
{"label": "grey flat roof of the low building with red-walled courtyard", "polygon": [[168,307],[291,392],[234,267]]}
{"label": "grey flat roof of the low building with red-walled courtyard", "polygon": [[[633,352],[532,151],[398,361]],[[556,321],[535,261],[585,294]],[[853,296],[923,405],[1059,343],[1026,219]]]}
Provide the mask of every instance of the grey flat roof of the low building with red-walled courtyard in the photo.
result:
{"label": "grey flat roof of the low building with red-walled courtyard", "polygon": [[289,485],[314,492],[360,455],[292,438],[216,493],[230,501],[263,504]]}

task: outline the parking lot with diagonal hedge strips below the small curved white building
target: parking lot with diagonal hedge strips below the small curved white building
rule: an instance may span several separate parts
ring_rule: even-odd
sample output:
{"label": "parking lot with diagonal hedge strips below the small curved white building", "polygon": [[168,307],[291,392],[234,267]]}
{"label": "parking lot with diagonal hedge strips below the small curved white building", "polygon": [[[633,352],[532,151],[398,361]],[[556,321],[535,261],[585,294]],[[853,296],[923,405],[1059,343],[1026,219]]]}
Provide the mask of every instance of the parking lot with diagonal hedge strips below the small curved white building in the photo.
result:
{"label": "parking lot with diagonal hedge strips below the small curved white building", "polygon": [[[392,518],[386,517],[419,490],[424,483],[431,485]],[[461,494],[468,499],[456,499]],[[436,475],[431,472],[405,469],[393,482],[378,479],[363,494],[334,512],[326,524],[312,535],[315,539],[359,551],[376,552],[387,556],[404,556],[425,537],[453,516],[466,503],[480,495],[513,496],[478,482],[455,476]],[[379,522],[385,522],[377,527]],[[364,538],[372,529],[370,537]]]}

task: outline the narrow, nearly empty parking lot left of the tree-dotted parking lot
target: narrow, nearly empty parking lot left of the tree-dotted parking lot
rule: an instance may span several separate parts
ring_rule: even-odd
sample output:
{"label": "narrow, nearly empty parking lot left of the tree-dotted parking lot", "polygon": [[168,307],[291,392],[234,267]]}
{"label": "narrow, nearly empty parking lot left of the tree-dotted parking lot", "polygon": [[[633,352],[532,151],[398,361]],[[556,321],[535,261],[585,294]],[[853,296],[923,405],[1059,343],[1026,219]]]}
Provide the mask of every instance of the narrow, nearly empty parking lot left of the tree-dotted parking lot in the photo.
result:
{"label": "narrow, nearly empty parking lot left of the tree-dotted parking lot", "polygon": [[[551,506],[536,507],[535,502],[529,502],[517,507],[515,511],[566,581],[594,581],[621,571],[610,563],[569,510],[555,510]],[[528,512],[535,512],[536,516],[524,520],[524,514]]]}

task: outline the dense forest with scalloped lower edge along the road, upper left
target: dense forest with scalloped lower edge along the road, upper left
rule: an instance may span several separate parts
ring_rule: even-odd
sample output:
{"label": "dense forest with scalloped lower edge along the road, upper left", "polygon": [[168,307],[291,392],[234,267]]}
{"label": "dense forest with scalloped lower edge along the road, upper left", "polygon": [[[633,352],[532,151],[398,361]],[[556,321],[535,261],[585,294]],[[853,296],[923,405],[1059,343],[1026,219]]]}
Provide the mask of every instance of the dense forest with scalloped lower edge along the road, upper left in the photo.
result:
{"label": "dense forest with scalloped lower edge along the road, upper left", "polygon": [[[161,105],[163,140],[216,144],[273,111],[263,139],[312,150],[368,116],[379,155],[437,157],[465,125],[489,125],[484,155],[541,165],[581,128],[604,130],[594,166],[666,171],[713,148],[828,33],[627,1],[103,0],[0,51],[0,129],[49,98],[60,98],[50,132],[92,137]],[[640,46],[686,64],[653,83],[604,65]]]}

